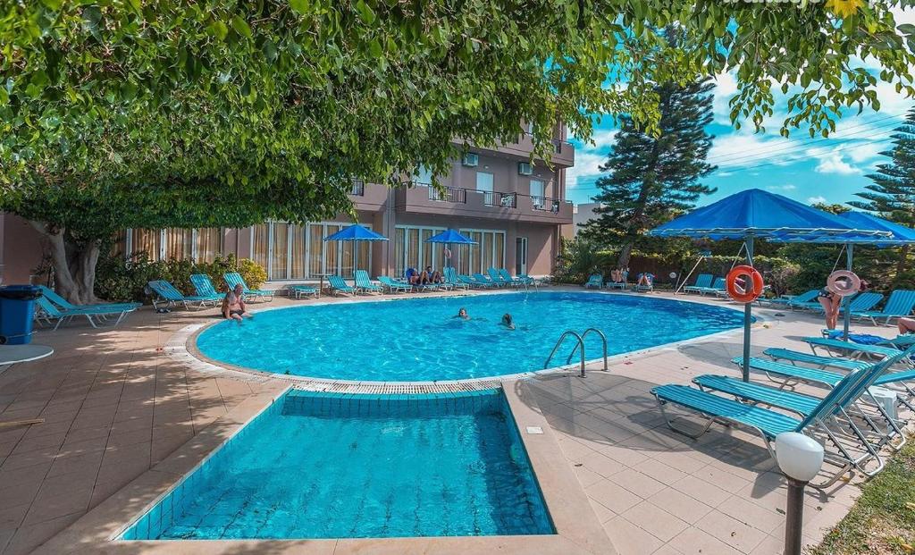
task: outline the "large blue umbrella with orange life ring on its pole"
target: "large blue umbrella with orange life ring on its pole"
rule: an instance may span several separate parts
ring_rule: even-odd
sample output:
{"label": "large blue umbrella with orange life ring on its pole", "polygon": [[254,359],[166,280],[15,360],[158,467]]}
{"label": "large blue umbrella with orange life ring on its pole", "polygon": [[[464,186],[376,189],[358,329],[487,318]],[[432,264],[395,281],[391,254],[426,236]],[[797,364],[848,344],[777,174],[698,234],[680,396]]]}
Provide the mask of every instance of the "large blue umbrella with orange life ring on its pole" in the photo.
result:
{"label": "large blue umbrella with orange life ring on its pole", "polygon": [[[742,239],[747,248],[747,263],[753,264],[753,239],[756,237],[791,239],[838,234],[861,236],[887,235],[871,226],[858,226],[834,214],[817,210],[766,190],[737,192],[708,206],[698,208],[652,229],[656,237],[694,239]],[[750,323],[752,303],[744,308],[743,379],[749,381]]]}

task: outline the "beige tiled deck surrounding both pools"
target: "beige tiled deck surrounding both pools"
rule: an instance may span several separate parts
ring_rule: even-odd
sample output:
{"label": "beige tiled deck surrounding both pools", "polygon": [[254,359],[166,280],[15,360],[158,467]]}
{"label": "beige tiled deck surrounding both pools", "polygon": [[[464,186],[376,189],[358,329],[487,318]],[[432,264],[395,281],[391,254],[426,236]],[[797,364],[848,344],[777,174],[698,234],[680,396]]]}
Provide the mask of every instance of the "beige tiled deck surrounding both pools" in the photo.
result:
{"label": "beige tiled deck surrounding both pools", "polygon": [[[307,302],[311,301],[276,299],[257,306]],[[166,353],[176,332],[212,321],[215,312],[162,315],[140,310],[114,330],[96,332],[73,325],[59,332],[39,332],[35,342],[53,346],[55,354],[0,374],[0,421],[46,419],[30,428],[0,430],[0,553],[28,553],[55,536],[41,551],[110,550],[110,544],[102,545],[98,529],[126,524],[150,492],[175,483],[289,386],[285,380],[212,372]],[[797,339],[816,334],[821,327],[810,315],[772,318],[773,312],[758,310],[768,318],[754,329],[757,353],[770,346],[802,346]],[[612,342],[615,331],[609,326],[604,331]],[[892,334],[888,329],[878,333]],[[552,430],[544,446],[531,453],[538,478],[543,482],[558,476],[554,487],[564,489],[562,477],[576,473],[612,542],[577,543],[578,550],[623,555],[780,552],[785,484],[761,441],[718,426],[700,441],[688,440],[666,428],[649,394],[652,386],[688,383],[694,375],[737,375],[729,359],[740,349],[739,333],[719,335],[617,359],[608,374],[592,365],[584,380],[556,374],[505,384],[515,399],[512,410],[520,425],[540,419]],[[528,449],[532,450],[530,444]],[[557,458],[560,454],[565,457]],[[825,494],[811,491],[806,498],[805,538],[822,538],[845,515],[857,493],[854,483],[841,482]],[[106,507],[127,516],[109,522],[112,513],[106,513]],[[554,517],[569,508],[575,507],[550,507]],[[574,523],[569,526],[574,528]],[[578,532],[579,537],[595,537],[590,530]],[[480,538],[439,541],[434,552],[504,547]],[[547,552],[542,539],[514,541],[518,549]],[[426,539],[402,540],[397,546],[390,540],[268,543],[271,552],[433,552]],[[152,547],[135,544],[117,551],[145,552]],[[567,546],[554,547],[556,552],[570,552]],[[204,548],[260,552],[268,546],[208,541],[173,544],[168,552]]]}

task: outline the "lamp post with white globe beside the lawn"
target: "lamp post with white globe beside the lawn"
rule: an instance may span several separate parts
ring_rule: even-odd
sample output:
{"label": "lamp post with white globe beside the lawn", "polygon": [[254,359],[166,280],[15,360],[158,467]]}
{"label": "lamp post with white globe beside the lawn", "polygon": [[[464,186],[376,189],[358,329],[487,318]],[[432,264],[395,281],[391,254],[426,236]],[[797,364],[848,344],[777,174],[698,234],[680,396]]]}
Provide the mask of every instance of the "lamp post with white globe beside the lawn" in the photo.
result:
{"label": "lamp post with white globe beside the lawn", "polygon": [[802,433],[780,433],[775,437],[775,459],[788,478],[784,555],[801,555],[803,488],[820,473],[823,446]]}

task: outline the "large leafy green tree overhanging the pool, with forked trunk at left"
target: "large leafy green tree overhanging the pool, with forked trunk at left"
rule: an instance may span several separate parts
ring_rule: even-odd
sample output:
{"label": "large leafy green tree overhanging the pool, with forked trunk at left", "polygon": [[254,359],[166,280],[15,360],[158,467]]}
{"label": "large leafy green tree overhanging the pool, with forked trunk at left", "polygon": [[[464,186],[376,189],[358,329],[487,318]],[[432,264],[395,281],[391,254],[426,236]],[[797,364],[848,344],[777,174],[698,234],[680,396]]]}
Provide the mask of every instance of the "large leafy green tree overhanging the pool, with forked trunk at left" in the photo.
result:
{"label": "large leafy green tree overhanging the pool, with forked trunk at left", "polygon": [[[826,133],[877,105],[878,78],[912,91],[915,27],[891,5],[0,1],[0,208],[48,234],[85,301],[112,229],[345,211],[351,179],[443,173],[455,137],[512,140],[522,121],[543,158],[554,124],[587,137],[588,113],[656,131],[653,83],[697,72],[736,71],[732,116],[758,126],[771,83],[796,85],[785,130]],[[674,21],[677,48],[651,30]]]}

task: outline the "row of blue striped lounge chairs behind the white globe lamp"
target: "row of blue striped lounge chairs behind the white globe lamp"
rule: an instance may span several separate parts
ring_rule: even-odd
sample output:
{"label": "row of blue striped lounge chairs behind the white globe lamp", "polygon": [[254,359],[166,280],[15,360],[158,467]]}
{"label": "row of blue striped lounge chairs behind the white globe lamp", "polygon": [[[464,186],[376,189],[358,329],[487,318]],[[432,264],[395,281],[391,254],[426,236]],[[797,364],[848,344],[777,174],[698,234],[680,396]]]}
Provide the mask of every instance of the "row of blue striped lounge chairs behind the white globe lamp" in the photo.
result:
{"label": "row of blue striped lounge chairs behind the white globe lamp", "polygon": [[[699,375],[692,386],[671,384],[651,389],[667,424],[693,438],[703,435],[716,421],[753,430],[765,441],[774,458],[772,442],[781,432],[794,431],[824,444],[825,462],[835,467],[822,484],[828,487],[846,473],[867,476],[884,466],[885,447],[899,450],[906,442],[906,425],[896,410],[889,411],[877,401],[872,386],[889,388],[896,394],[899,408],[913,410],[915,390],[915,340],[901,336],[884,344],[849,343],[823,337],[807,337],[812,353],[772,348],[752,357],[750,369],[764,375],[761,380],[744,382],[736,376]],[[906,350],[904,348],[908,347]],[[732,360],[738,367],[743,357]],[[756,375],[754,375],[756,376]],[[786,387],[805,384],[810,391],[820,388],[823,395],[801,393]],[[678,423],[685,415],[674,416],[676,406],[705,422],[687,430]]]}

